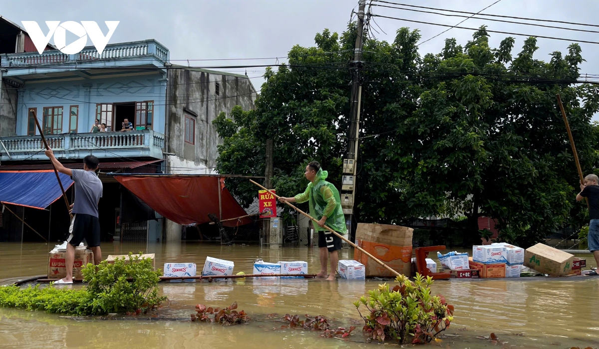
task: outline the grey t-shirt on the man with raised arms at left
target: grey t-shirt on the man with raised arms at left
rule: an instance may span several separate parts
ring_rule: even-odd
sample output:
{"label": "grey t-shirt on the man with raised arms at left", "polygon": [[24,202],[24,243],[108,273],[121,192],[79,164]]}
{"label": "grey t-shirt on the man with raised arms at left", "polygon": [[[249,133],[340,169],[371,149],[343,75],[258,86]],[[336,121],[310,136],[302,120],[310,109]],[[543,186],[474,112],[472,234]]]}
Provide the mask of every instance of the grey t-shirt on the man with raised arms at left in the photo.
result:
{"label": "grey t-shirt on the man with raised arms at left", "polygon": [[72,213],[84,213],[98,217],[98,201],[102,197],[102,181],[93,171],[73,169],[75,202]]}

